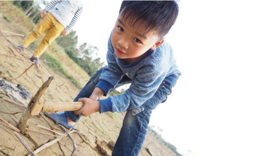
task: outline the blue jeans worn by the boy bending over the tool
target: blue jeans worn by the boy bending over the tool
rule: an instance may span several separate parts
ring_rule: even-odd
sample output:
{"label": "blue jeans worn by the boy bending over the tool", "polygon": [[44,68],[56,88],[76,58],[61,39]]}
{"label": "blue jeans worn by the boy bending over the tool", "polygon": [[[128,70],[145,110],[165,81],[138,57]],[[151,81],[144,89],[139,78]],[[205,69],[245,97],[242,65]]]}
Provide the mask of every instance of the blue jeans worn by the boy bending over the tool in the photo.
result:
{"label": "blue jeans worn by the boy bending over the tool", "polygon": [[[96,74],[91,77],[89,82],[87,82],[74,101],[77,101],[82,97],[90,97],[96,84],[99,82],[102,69],[103,68],[99,69]],[[165,102],[167,95],[171,94],[172,92],[172,86],[169,79],[166,77],[153,97],[148,99],[144,104],[142,104],[142,106],[139,106],[136,109],[127,110],[127,113],[124,116],[122,128],[112,152],[112,156],[139,155],[147,134],[147,128],[152,110],[155,109],[158,104]],[[117,84],[116,88],[131,82],[132,79],[129,79],[129,77],[125,75]],[[66,115],[74,122],[77,122],[81,117],[81,115],[74,114],[74,111],[66,111]]]}

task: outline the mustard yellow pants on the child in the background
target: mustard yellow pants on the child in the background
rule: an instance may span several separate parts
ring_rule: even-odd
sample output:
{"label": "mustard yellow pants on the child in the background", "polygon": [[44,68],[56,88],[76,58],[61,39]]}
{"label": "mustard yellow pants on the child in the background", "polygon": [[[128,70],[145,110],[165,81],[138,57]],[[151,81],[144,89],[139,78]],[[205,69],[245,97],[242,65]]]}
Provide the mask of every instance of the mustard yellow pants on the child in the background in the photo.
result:
{"label": "mustard yellow pants on the child in the background", "polygon": [[36,28],[25,38],[25,40],[23,40],[22,45],[25,48],[28,47],[36,38],[41,36],[47,30],[48,32],[43,37],[42,42],[33,54],[35,57],[40,57],[51,42],[64,30],[64,26],[58,22],[51,12],[48,12]]}

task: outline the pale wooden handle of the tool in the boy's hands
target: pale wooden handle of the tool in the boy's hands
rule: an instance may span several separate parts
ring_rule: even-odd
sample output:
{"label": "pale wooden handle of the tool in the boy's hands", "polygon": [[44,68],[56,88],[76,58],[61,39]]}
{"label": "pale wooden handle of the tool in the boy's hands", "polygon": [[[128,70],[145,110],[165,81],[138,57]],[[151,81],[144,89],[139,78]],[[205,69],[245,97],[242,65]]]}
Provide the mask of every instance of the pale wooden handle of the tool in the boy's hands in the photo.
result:
{"label": "pale wooden handle of the tool in the boy's hands", "polygon": [[42,112],[78,111],[83,106],[84,106],[83,102],[47,102],[47,103],[43,103]]}

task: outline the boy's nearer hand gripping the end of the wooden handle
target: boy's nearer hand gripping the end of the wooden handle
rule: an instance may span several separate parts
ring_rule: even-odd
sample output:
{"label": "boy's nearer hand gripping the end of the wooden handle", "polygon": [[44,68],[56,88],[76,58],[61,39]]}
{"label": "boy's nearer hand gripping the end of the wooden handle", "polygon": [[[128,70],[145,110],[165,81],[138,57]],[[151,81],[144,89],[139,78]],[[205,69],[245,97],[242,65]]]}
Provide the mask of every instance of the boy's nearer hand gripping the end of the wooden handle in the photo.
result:
{"label": "boy's nearer hand gripping the end of the wooden handle", "polygon": [[93,99],[89,98],[80,98],[78,101],[83,102],[84,106],[80,110],[75,111],[75,114],[89,116],[100,111],[99,101],[94,101]]}

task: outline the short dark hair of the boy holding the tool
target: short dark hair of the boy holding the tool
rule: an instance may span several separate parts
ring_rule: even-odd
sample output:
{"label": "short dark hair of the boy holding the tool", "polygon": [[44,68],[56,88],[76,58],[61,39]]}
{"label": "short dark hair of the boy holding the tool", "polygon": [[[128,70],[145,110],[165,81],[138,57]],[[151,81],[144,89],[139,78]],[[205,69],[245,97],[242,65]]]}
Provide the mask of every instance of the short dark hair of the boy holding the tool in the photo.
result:
{"label": "short dark hair of the boy holding the tool", "polygon": [[176,1],[169,0],[124,0],[119,10],[129,26],[133,27],[141,20],[145,24],[144,34],[155,30],[157,35],[164,37],[174,25],[179,12]]}

